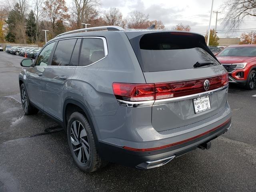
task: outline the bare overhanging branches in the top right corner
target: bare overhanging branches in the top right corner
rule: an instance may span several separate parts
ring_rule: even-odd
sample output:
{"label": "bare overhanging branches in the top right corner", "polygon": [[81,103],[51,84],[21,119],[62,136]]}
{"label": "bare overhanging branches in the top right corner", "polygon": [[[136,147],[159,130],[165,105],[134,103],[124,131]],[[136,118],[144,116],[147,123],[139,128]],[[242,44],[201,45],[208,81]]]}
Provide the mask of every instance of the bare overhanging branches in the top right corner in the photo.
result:
{"label": "bare overhanging branches in the top right corner", "polygon": [[230,29],[237,29],[246,16],[256,16],[256,0],[226,0],[222,7],[225,27]]}

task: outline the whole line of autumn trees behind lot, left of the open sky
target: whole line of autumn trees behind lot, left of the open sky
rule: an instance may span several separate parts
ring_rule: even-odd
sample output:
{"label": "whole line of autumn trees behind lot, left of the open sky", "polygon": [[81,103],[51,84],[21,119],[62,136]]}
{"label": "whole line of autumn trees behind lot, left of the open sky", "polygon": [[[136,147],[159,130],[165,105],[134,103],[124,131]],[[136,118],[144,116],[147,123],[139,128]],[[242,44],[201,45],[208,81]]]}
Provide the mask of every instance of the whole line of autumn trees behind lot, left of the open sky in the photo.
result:
{"label": "whole line of autumn trees behind lot, left of the open sky", "polygon": [[149,15],[132,11],[126,18],[118,8],[102,11],[99,0],[72,0],[68,6],[65,0],[6,0],[0,6],[0,42],[33,44],[44,42],[44,30],[48,40],[56,35],[90,27],[118,25],[123,28],[164,29],[160,20],[149,20]]}

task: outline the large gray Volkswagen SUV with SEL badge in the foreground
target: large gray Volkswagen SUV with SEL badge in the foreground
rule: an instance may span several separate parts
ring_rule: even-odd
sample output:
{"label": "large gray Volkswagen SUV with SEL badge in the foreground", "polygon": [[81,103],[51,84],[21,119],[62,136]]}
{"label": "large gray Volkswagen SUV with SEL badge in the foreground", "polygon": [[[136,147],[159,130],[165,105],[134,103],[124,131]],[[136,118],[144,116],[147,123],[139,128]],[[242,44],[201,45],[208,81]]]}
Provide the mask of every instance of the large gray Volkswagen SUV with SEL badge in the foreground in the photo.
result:
{"label": "large gray Volkswagen SUV with SEL badge in the foreground", "polygon": [[107,162],[158,167],[210,148],[231,125],[228,73],[199,34],[74,30],[21,66],[25,114],[40,110],[59,122],[84,172]]}

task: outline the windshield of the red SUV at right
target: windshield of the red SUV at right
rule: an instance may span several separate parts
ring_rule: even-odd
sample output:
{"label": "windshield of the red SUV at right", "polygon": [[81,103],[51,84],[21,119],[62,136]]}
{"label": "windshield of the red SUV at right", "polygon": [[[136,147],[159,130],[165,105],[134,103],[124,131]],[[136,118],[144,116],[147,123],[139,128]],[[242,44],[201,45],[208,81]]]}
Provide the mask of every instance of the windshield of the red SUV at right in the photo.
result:
{"label": "windshield of the red SUV at right", "polygon": [[225,48],[218,56],[256,56],[256,47],[228,47]]}

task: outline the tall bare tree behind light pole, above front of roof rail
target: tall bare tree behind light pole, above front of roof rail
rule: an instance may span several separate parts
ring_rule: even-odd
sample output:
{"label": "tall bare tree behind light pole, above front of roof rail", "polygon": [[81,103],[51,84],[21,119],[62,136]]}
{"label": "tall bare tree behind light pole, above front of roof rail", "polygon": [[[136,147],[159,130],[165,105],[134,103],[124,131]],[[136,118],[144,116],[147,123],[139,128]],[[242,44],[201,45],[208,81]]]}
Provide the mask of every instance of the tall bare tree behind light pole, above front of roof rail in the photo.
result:
{"label": "tall bare tree behind light pole, above front of roof rail", "polygon": [[94,20],[98,15],[99,0],[72,0],[72,20],[76,22],[76,29],[82,27],[82,23]]}

